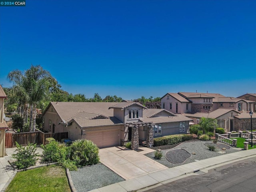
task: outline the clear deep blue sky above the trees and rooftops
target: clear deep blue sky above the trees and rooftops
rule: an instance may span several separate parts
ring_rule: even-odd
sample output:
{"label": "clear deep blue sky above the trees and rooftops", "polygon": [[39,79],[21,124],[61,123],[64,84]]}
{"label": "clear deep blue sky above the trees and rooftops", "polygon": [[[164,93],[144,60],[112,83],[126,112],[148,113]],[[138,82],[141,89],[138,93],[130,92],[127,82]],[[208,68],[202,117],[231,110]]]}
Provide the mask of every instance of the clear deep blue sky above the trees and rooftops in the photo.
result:
{"label": "clear deep blue sky above the trees and rooftops", "polygon": [[90,98],[256,93],[255,0],[26,0],[0,7],[0,84],[41,65]]}

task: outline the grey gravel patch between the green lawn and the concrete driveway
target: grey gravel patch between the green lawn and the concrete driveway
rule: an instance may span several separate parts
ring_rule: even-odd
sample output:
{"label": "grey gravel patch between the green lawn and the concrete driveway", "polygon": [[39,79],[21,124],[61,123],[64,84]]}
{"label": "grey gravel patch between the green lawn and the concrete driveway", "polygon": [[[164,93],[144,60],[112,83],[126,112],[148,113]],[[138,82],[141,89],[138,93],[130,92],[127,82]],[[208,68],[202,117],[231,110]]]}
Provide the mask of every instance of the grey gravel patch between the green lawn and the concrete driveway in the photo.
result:
{"label": "grey gravel patch between the green lawn and the concrete driveway", "polygon": [[70,171],[70,175],[77,192],[90,191],[124,181],[103,164],[78,168],[78,171]]}

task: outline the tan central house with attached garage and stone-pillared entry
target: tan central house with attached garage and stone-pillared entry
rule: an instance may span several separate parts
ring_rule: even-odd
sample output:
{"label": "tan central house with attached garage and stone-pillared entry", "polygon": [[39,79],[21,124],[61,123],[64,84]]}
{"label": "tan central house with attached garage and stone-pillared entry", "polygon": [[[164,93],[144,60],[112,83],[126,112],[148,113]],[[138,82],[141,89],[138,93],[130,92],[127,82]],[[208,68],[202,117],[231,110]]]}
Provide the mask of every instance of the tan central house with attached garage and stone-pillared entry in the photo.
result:
{"label": "tan central house with attached garage and stone-pillared entry", "polygon": [[[148,134],[157,137],[187,133],[190,120],[130,101],[50,102],[42,114],[44,132],[68,132],[71,140],[92,140],[100,148],[124,145],[132,138],[143,141]],[[133,128],[137,129],[135,137]]]}

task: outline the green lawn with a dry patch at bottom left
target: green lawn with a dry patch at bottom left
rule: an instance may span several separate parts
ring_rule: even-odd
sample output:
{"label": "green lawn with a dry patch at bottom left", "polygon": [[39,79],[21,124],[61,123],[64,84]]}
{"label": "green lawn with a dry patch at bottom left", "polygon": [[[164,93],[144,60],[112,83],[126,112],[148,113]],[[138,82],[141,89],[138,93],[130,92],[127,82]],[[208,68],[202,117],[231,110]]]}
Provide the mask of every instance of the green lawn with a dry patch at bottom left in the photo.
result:
{"label": "green lawn with a dry patch at bottom left", "polygon": [[65,169],[41,167],[18,172],[6,192],[71,192]]}

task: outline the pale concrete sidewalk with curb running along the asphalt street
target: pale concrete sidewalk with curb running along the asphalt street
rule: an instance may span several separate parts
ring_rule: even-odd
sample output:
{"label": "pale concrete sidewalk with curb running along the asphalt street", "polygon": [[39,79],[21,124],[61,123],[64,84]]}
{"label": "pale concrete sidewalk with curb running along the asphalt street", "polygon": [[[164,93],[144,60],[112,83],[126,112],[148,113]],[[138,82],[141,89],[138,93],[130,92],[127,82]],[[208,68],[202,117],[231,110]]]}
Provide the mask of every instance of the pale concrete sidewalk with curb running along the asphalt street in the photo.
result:
{"label": "pale concrete sidewalk with curb running along the asphalt street", "polygon": [[[256,157],[256,149],[244,150],[231,154],[225,154],[214,158],[208,158],[197,162],[168,168],[158,172],[150,173],[144,176],[133,178],[130,180],[115,183],[109,186],[91,190],[90,192],[129,192],[137,191],[154,185],[161,185],[173,180],[180,176],[186,176],[194,172],[208,172],[208,170],[230,164],[232,162],[240,161],[243,159]],[[143,191],[143,190],[141,190]]]}

